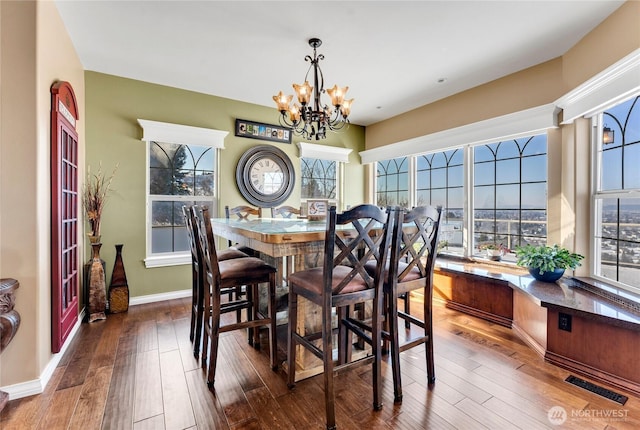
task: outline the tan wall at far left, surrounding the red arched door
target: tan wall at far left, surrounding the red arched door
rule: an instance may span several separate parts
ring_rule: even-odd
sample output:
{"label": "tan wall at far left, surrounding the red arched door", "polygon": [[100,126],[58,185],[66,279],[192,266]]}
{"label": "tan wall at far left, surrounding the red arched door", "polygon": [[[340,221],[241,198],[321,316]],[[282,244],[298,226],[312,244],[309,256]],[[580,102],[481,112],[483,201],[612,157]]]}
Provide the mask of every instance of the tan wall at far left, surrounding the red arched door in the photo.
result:
{"label": "tan wall at far left, surrounding the red arched door", "polygon": [[0,2],[0,276],[20,282],[22,323],[0,356],[0,386],[35,380],[51,359],[49,137],[51,84],[66,80],[81,107],[83,69],[53,2]]}

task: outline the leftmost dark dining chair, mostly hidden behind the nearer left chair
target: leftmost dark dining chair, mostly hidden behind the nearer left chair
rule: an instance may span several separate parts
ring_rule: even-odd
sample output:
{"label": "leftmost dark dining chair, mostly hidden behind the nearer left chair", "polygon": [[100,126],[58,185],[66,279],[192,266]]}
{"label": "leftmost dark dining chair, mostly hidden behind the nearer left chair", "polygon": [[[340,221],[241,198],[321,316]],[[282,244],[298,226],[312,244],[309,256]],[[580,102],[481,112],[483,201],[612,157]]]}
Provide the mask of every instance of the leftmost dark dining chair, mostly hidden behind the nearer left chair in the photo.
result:
{"label": "leftmost dark dining chair, mostly hidden behind the nearer left chair", "polygon": [[[189,339],[193,342],[193,356],[200,356],[200,343],[202,340],[202,318],[204,315],[204,281],[202,253],[198,244],[198,226],[193,218],[190,207],[182,206],[182,214],[189,238],[189,247],[191,249],[191,329],[189,331]],[[236,249],[225,249],[218,253],[218,260],[230,260],[232,258],[248,257],[244,252]]]}

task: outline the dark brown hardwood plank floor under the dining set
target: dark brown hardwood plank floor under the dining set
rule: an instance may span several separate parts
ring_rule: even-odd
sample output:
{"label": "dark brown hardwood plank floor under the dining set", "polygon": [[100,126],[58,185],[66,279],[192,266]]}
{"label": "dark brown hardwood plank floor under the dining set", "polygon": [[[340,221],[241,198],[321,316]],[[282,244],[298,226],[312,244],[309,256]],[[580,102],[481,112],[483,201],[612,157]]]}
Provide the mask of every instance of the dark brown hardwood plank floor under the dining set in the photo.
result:
{"label": "dark brown hardwood plank floor under the dining set", "polygon": [[[131,307],[83,324],[41,395],[12,400],[1,429],[321,429],[321,377],[290,391],[266,348],[241,332],[221,339],[216,392],[191,352],[189,299]],[[385,405],[371,408],[369,366],[338,376],[342,429],[638,429],[640,398],[624,406],[564,382],[509,329],[436,306],[436,377],[426,384],[421,347],[402,354],[404,401],[393,404],[383,366]],[[284,357],[283,357],[284,358]],[[549,411],[567,420],[553,425]],[[557,417],[557,416],[556,416]]]}

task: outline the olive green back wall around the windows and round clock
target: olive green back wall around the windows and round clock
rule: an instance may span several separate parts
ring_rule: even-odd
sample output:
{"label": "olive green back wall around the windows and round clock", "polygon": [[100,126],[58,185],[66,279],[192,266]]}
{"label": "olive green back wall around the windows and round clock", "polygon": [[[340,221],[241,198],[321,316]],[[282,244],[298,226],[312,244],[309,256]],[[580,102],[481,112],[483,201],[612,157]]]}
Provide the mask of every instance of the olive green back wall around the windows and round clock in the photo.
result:
{"label": "olive green back wall around the windows and round clock", "polygon": [[[236,118],[277,124],[275,108],[95,72],[85,72],[85,91],[86,163],[92,171],[102,163],[108,173],[119,164],[101,228],[107,283],[115,259],[114,245],[122,243],[131,297],[185,290],[191,285],[187,265],[153,269],[144,266],[146,152],[138,119],[229,131],[225,149],[220,152],[220,210],[225,205],[246,204],[235,185],[235,168],[242,153],[258,144],[273,144],[289,155],[296,170],[296,186],[284,204],[300,204],[296,137],[288,145],[233,135]],[[353,149],[345,167],[344,203],[363,202],[365,169],[358,152],[364,150],[364,128],[351,125],[345,131],[331,133],[321,144]],[[219,215],[224,216],[223,212]]]}

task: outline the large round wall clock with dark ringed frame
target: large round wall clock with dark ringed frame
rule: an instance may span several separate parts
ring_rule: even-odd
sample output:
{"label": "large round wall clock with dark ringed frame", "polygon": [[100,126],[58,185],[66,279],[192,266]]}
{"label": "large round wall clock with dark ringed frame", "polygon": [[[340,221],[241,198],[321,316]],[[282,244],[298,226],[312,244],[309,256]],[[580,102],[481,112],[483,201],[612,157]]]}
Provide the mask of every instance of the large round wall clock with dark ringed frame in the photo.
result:
{"label": "large round wall clock with dark ringed frame", "polygon": [[238,161],[236,183],[249,203],[260,207],[278,206],[293,191],[293,165],[281,149],[270,145],[254,146]]}

